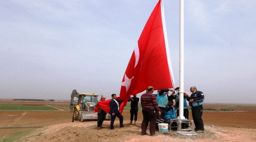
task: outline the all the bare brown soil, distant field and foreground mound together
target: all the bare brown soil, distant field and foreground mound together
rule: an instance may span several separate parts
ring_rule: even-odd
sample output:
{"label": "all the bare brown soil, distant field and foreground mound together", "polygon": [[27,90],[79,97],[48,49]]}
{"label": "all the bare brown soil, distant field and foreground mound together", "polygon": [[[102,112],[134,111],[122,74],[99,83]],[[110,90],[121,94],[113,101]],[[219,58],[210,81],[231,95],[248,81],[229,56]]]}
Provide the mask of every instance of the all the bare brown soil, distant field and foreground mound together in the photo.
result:
{"label": "all the bare brown soil, distant field and foreground mound together", "polygon": [[[225,105],[224,105],[225,106]],[[219,108],[223,105],[204,105],[204,108]],[[229,105],[226,105],[228,107]],[[232,106],[232,105],[230,105]],[[238,106],[236,106],[238,107]],[[256,106],[251,106],[256,108]],[[239,108],[242,108],[240,106]],[[248,106],[245,108],[249,108]],[[124,128],[119,128],[116,118],[110,130],[110,121],[104,121],[105,128],[97,130],[97,122],[71,122],[69,111],[0,111],[0,141],[20,142],[70,142],[70,141],[124,141],[124,142],[255,142],[256,141],[256,110],[244,112],[204,111],[204,133],[196,136],[178,135],[176,130],[168,133],[157,131],[158,136],[140,136],[142,112],[138,113],[137,125],[129,125],[129,111],[124,111]],[[190,119],[192,115],[190,112]],[[22,132],[21,135],[14,134]],[[11,137],[10,137],[11,136]]]}

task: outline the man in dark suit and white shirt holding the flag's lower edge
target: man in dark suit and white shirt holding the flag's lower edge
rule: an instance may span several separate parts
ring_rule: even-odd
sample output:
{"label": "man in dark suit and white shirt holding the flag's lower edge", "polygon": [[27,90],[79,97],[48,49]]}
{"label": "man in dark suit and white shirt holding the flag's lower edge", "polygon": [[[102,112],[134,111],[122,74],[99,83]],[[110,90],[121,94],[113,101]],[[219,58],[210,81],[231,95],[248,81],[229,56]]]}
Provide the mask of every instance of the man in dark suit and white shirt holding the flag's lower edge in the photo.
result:
{"label": "man in dark suit and white shirt holding the flag's lower edge", "polygon": [[122,101],[118,101],[116,98],[116,94],[111,95],[112,100],[110,101],[110,115],[111,115],[111,122],[110,122],[110,129],[114,129],[114,120],[116,119],[116,116],[119,118],[120,122],[120,128],[124,127],[123,125],[123,115],[119,113],[119,102],[121,103]]}

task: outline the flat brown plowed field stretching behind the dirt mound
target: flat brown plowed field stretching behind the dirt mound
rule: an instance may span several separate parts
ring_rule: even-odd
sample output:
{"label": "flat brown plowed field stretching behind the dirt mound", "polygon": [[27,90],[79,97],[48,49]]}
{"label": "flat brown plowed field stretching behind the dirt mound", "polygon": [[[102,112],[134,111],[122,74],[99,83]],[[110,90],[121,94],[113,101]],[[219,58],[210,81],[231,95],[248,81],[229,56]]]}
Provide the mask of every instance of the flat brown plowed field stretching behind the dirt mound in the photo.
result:
{"label": "flat brown plowed field stretching behind the dirt mound", "polygon": [[[0,103],[3,103],[3,102],[0,102]],[[6,102],[4,102],[4,103],[6,103]],[[24,103],[24,102],[15,102],[15,103]],[[29,102],[29,103],[31,103],[31,102]],[[38,102],[33,102],[33,103],[38,103]],[[53,104],[47,104],[47,105],[58,108],[58,106],[60,104],[68,107],[68,105],[67,105],[68,103],[64,104],[63,102],[59,102],[59,103],[54,102]],[[204,121],[204,125],[206,125],[206,132],[200,134],[201,138],[203,137],[203,135],[207,136],[205,138],[209,138],[211,135],[213,135],[213,133],[210,132],[209,130],[207,132],[207,128],[212,129],[210,127],[213,126],[213,127],[225,127],[228,130],[233,130],[233,129],[236,130],[238,128],[243,129],[243,130],[250,129],[250,131],[251,130],[253,130],[253,131],[251,131],[251,138],[249,140],[252,140],[252,141],[256,140],[256,136],[255,136],[256,105],[233,105],[233,104],[232,105],[230,105],[230,104],[205,104],[204,105],[204,108],[223,108],[223,107],[228,107],[229,109],[235,108],[235,111],[204,111],[203,112],[203,121]],[[123,112],[124,123],[127,123],[127,124],[129,123],[129,119],[130,119],[129,115],[130,115],[129,111]],[[136,131],[138,130],[138,135],[139,135],[139,131],[140,131],[139,123],[141,123],[142,119],[143,119],[142,112],[139,111],[138,120],[137,120],[138,121],[138,129],[136,129]],[[2,111],[0,111],[0,122],[1,122],[0,123],[0,127],[1,127],[0,139],[1,139],[1,137],[4,137],[8,134],[24,132],[24,131],[28,131],[28,130],[39,131],[40,129],[47,128],[47,127],[49,128],[49,127],[55,126],[56,124],[59,124],[59,125],[63,124],[64,126],[65,125],[72,126],[72,124],[74,124],[75,126],[79,126],[79,124],[80,124],[82,126],[82,125],[86,124],[86,126],[90,125],[90,127],[92,127],[94,129],[93,131],[96,130],[96,124],[97,124],[96,122],[73,122],[73,123],[70,123],[71,120],[72,120],[72,113],[70,111],[64,110],[64,109],[60,109],[58,111],[4,111],[4,110],[2,110]],[[192,120],[191,111],[190,111],[190,120]],[[115,125],[118,125],[118,122],[119,122],[119,120],[117,118],[115,121]],[[88,124],[88,123],[90,123],[90,124]],[[106,132],[110,131],[110,130],[108,130],[110,121],[104,121],[103,125],[106,127]],[[132,129],[132,126],[129,126],[129,127],[127,127],[127,129],[128,128]],[[79,131],[79,130],[77,130],[77,127],[76,127],[76,131]],[[103,130],[96,130],[96,131],[103,131]],[[119,131],[119,128],[118,128],[118,131]],[[121,129],[120,129],[120,131],[121,131]],[[126,130],[126,132],[128,133],[129,131]],[[54,135],[54,134],[52,134],[52,135]],[[67,134],[63,134],[63,135],[67,135]],[[200,138],[200,137],[198,137],[198,138]],[[216,138],[216,136],[214,138]],[[31,139],[31,141],[32,140],[33,139]],[[33,141],[44,141],[44,140],[45,141],[55,141],[55,140],[60,141],[57,139],[48,140],[46,137],[43,137],[41,139],[36,139]],[[101,139],[101,140],[103,140],[103,139]],[[151,139],[149,139],[149,140],[151,140]],[[232,140],[232,138],[230,140]],[[97,141],[97,139],[94,141]],[[157,141],[157,139],[156,139],[156,141]],[[196,141],[200,141],[200,140],[197,139]]]}

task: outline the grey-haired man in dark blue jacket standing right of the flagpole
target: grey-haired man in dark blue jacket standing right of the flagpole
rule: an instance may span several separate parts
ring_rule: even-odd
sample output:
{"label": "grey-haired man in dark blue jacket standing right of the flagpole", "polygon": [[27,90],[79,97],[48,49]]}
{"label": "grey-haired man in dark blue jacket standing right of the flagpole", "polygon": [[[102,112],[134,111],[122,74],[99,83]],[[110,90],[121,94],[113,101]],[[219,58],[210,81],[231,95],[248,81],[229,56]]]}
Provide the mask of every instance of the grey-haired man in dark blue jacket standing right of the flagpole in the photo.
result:
{"label": "grey-haired man in dark blue jacket standing right of the flagpole", "polygon": [[204,125],[203,125],[202,115],[203,115],[204,94],[201,91],[197,91],[197,88],[194,86],[190,87],[190,92],[192,92],[190,97],[188,97],[187,94],[184,94],[184,96],[190,102],[189,105],[192,107],[191,108],[192,117],[194,120],[194,124],[196,126],[195,131],[197,131],[197,133],[203,133]]}

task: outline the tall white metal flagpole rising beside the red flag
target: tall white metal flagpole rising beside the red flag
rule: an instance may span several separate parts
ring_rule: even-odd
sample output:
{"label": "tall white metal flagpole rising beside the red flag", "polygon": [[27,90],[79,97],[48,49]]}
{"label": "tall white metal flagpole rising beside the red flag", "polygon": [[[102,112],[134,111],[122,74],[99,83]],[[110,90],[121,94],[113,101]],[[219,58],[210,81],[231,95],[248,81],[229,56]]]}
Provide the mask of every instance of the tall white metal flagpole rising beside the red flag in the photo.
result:
{"label": "tall white metal flagpole rising beside the red flag", "polygon": [[184,0],[180,0],[180,111],[178,119],[184,120],[183,104],[184,104]]}

